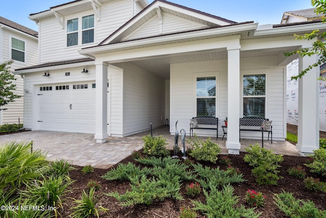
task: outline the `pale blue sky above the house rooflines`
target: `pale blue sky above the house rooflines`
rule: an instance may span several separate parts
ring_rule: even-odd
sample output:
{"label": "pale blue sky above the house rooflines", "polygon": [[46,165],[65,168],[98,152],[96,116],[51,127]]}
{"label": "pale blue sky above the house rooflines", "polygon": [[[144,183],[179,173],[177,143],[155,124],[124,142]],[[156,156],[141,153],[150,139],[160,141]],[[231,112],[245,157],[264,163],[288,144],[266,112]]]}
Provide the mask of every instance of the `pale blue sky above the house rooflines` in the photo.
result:
{"label": "pale blue sky above the house rooflines", "polygon": [[[48,10],[72,0],[0,0],[0,16],[38,31],[29,14]],[[172,3],[220,16],[236,22],[255,21],[259,25],[278,24],[283,13],[312,8],[309,0],[169,0]],[[153,0],[148,0],[152,3]]]}

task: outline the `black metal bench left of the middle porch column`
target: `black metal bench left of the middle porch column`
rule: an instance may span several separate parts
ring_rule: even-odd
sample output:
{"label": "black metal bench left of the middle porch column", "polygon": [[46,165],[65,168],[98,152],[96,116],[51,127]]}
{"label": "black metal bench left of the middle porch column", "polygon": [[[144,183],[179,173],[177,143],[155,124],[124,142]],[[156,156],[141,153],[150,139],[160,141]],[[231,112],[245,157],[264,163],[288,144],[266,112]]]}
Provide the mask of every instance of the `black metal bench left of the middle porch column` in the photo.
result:
{"label": "black metal bench left of the middle porch column", "polygon": [[[190,123],[190,133],[189,136],[192,138],[192,134],[194,136],[194,129],[205,129],[205,130],[216,130],[216,140],[218,140],[218,127],[219,127],[219,118],[212,117],[212,116],[197,116],[193,117],[193,120],[195,121],[195,125]],[[196,123],[198,125],[196,125]],[[212,125],[212,127],[203,127],[199,125]]]}

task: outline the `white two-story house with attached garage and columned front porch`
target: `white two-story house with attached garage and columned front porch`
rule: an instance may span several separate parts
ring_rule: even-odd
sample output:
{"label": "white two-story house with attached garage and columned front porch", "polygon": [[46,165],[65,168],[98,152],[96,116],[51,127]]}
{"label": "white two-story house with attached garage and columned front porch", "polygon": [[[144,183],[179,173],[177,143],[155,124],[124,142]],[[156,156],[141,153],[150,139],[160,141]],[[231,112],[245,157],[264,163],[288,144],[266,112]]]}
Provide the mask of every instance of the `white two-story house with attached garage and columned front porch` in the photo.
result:
{"label": "white two-story house with attached garage and columned front porch", "polygon": [[[194,116],[228,116],[231,154],[241,147],[243,116],[273,120],[273,138],[284,140],[286,64],[297,58],[284,52],[311,46],[294,33],[326,30],[318,21],[235,22],[164,0],[78,0],[30,19],[39,25],[40,62],[16,70],[30,90],[25,128],[92,133],[104,142],[147,130],[150,122],[158,127],[169,119],[173,134],[177,120],[187,130]],[[316,58],[301,58],[301,67]],[[318,75],[314,68],[300,82],[301,152],[318,147]]]}

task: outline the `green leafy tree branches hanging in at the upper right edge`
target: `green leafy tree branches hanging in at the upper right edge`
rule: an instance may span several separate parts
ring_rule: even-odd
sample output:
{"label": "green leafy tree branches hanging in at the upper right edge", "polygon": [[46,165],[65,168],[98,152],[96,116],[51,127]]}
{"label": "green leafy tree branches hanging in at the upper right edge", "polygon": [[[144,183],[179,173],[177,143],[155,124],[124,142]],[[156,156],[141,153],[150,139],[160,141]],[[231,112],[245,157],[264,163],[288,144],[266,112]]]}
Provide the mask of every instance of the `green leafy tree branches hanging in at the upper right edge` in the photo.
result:
{"label": "green leafy tree branches hanging in at the upper right edge", "polygon": [[[314,12],[316,14],[326,14],[326,0],[311,0],[312,6],[315,7]],[[326,22],[326,17],[322,16],[321,21]],[[296,39],[305,39],[305,40],[315,40],[312,43],[312,47],[298,49],[292,52],[285,53],[286,56],[291,56],[294,54],[300,55],[300,57],[309,56],[317,54],[318,60],[316,63],[309,65],[306,69],[302,70],[297,76],[291,77],[291,80],[297,80],[302,78],[310,69],[313,67],[318,67],[326,63],[326,32],[321,33],[319,30],[313,30],[311,33],[306,33],[304,35],[294,34]],[[325,79],[325,78],[320,78]]]}

